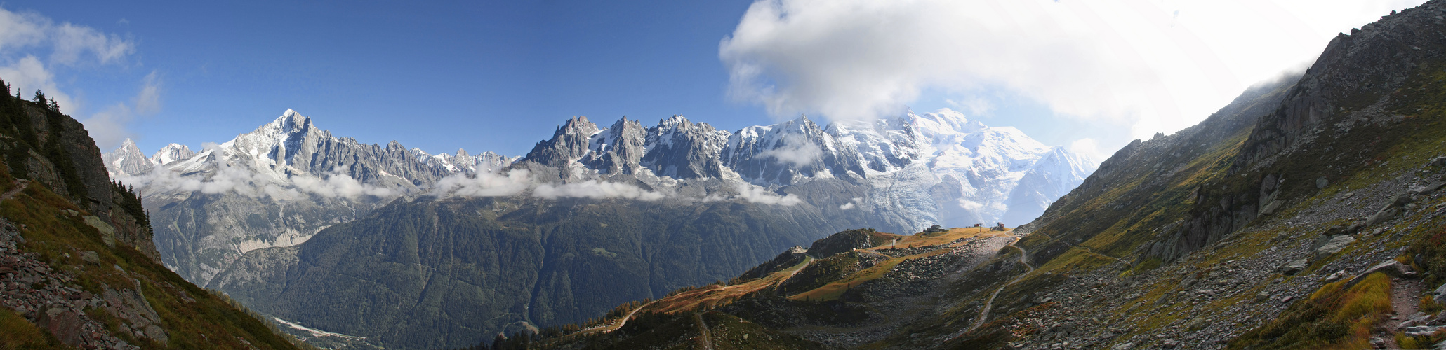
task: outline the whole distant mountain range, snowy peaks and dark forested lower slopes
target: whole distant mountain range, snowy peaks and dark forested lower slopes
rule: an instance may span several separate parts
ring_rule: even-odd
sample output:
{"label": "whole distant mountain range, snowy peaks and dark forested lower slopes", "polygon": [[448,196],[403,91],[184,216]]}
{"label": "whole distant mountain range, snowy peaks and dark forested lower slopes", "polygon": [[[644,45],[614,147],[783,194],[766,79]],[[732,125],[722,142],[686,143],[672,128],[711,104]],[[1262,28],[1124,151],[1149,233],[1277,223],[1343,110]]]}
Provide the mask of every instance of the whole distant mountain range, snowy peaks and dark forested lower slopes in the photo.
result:
{"label": "whole distant mountain range, snowy peaks and dark forested lower slopes", "polygon": [[[286,111],[194,154],[145,157],[126,143],[104,158],[142,193],[158,251],[182,277],[257,313],[393,347],[578,323],[847,228],[1025,222],[1095,167],[949,109],[736,133],[681,115],[646,128],[574,117],[522,157],[360,144]],[[615,220],[578,219],[603,213]],[[435,219],[403,219],[416,215]],[[427,248],[437,245],[448,249]],[[489,261],[500,256],[512,261]],[[434,272],[401,269],[416,264]],[[500,269],[518,275],[497,279]],[[414,307],[375,308],[398,301]],[[455,305],[470,311],[425,311]],[[340,317],[354,310],[376,321]]]}

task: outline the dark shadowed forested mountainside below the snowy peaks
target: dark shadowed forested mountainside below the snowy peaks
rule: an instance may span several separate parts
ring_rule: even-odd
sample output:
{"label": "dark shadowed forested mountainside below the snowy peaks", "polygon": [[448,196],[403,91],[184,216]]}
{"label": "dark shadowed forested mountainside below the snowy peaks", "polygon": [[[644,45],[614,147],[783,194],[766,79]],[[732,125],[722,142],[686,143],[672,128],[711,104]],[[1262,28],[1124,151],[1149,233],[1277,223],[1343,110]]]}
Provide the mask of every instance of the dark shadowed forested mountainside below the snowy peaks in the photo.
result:
{"label": "dark shadowed forested mountainside below the snowy peaks", "polygon": [[839,219],[730,202],[421,197],[247,253],[210,288],[389,347],[455,347],[727,279],[820,228],[862,225]]}

